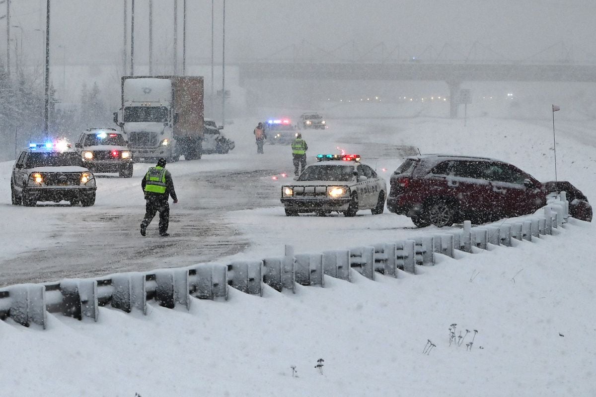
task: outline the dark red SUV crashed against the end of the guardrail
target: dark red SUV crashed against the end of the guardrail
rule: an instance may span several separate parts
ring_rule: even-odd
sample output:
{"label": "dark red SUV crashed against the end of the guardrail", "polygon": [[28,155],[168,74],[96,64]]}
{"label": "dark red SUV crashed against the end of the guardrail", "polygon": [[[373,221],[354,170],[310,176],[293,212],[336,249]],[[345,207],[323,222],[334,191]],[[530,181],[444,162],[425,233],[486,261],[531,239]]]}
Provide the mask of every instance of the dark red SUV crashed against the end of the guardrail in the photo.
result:
{"label": "dark red SUV crashed against the end of the guardrail", "polygon": [[406,158],[393,173],[387,208],[410,217],[417,227],[484,223],[535,212],[552,191],[546,185],[491,158],[420,155]]}

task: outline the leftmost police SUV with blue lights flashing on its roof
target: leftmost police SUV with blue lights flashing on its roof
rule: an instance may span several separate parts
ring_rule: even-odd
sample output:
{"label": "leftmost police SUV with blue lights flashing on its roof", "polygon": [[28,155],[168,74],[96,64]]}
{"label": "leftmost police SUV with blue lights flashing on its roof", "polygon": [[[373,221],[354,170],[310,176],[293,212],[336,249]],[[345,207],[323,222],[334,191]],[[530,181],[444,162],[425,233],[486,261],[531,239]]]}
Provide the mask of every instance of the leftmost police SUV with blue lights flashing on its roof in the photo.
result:
{"label": "leftmost police SUV with blue lights flashing on its roof", "polygon": [[10,177],[13,205],[33,207],[38,201],[95,204],[95,177],[80,154],[64,141],[30,143],[14,163]]}

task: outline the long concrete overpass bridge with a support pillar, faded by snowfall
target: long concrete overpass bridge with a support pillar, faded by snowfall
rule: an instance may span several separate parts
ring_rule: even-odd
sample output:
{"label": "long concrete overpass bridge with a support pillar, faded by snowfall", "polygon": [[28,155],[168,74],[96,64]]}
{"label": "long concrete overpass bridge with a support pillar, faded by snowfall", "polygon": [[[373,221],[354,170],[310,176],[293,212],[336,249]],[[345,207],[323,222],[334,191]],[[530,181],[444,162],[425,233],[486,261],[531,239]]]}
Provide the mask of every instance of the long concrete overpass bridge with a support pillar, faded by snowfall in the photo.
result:
{"label": "long concrete overpass bridge with a support pillar, faded by snowfall", "polygon": [[468,62],[238,62],[240,85],[251,79],[443,81],[457,117],[463,82],[596,82],[596,65]]}

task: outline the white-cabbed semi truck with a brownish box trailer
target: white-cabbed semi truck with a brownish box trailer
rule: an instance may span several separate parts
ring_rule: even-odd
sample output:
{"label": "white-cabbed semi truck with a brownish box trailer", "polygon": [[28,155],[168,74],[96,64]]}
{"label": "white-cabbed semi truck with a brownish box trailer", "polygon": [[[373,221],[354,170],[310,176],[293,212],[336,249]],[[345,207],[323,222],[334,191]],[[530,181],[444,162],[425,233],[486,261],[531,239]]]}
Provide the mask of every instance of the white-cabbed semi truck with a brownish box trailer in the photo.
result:
{"label": "white-cabbed semi truck with a brownish box trailer", "polygon": [[203,77],[123,76],[121,87],[122,107],[114,112],[114,123],[135,161],[201,158]]}

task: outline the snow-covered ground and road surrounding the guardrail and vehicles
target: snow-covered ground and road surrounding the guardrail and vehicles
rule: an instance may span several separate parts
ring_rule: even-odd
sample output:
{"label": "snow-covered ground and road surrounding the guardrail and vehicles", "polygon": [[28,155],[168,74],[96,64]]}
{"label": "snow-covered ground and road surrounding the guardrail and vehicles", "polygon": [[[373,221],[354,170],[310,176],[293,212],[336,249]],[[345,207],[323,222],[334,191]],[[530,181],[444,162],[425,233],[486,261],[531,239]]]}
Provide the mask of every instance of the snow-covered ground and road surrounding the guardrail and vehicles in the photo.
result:
{"label": "snow-covered ground and road surrounding the guardrail and vehicles", "polygon": [[[562,112],[562,111],[561,111]],[[169,165],[179,204],[172,237],[151,225],[139,178],[98,180],[91,208],[12,207],[2,163],[0,285],[195,262],[260,259],[349,248],[432,233],[408,218],[361,211],[355,218],[287,218],[278,201],[291,173],[287,146],[257,156],[256,120],[237,120],[229,155]],[[596,133],[590,122],[558,122],[557,171],[595,201]],[[361,154],[386,177],[410,146],[421,152],[485,155],[539,180],[554,179],[551,120],[436,117],[330,120],[305,132],[309,158],[336,148]],[[277,175],[277,180],[272,176]],[[40,220],[43,220],[40,222]],[[370,281],[326,278],[263,298],[231,290],[227,302],[194,300],[190,312],[151,305],[147,317],[101,308],[98,323],[49,315],[48,330],[0,322],[0,385],[7,395],[85,396],[561,396],[596,395],[596,270],[592,224],[516,248],[440,257],[420,274]],[[449,325],[477,330],[472,351],[449,346]],[[422,354],[427,340],[436,345]],[[481,348],[482,347],[482,348]],[[8,359],[10,357],[10,359]],[[323,358],[323,373],[314,368]],[[292,376],[295,365],[297,376]]]}

